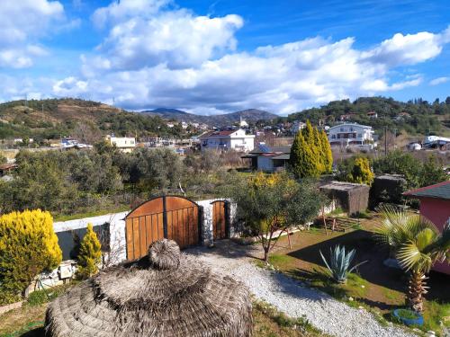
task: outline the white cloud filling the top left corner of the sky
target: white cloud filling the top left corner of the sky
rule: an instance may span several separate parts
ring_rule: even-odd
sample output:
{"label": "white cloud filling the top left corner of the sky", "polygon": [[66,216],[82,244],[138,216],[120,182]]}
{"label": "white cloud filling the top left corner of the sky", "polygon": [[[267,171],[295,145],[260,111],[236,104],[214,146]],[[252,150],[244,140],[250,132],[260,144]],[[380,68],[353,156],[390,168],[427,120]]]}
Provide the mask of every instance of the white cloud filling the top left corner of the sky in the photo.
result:
{"label": "white cloud filling the top left corner of the sky", "polygon": [[52,22],[64,19],[58,1],[3,0],[0,5],[0,67],[31,67],[33,58],[46,54],[36,42]]}

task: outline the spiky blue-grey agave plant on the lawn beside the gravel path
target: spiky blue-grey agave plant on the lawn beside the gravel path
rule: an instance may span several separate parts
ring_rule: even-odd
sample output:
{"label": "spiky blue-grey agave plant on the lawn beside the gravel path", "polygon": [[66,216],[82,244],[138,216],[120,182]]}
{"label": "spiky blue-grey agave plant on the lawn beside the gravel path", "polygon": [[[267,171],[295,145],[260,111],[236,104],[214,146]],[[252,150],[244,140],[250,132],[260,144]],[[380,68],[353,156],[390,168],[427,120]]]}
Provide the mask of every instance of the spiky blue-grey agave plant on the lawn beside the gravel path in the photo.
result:
{"label": "spiky blue-grey agave plant on the lawn beside the gravel path", "polygon": [[[319,251],[320,252],[320,251]],[[356,269],[356,267],[361,264],[367,262],[357,263],[355,266],[350,268],[350,264],[355,258],[356,250],[353,249],[350,252],[346,253],[346,247],[342,247],[340,245],[336,245],[334,249],[329,249],[329,262],[323,256],[322,252],[320,252],[320,256],[322,257],[323,262],[329,269],[331,274],[331,278],[336,280],[338,283],[345,283],[347,281],[347,274]]]}

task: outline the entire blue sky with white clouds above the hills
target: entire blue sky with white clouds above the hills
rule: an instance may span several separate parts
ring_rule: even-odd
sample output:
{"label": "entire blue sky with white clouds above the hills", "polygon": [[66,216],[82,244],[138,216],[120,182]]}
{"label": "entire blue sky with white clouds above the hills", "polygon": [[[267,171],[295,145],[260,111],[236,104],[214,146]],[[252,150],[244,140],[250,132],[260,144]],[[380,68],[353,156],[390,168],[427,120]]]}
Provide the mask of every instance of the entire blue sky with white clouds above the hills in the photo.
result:
{"label": "entire blue sky with white clouds above the hills", "polygon": [[280,114],[450,96],[450,2],[3,0],[0,100]]}

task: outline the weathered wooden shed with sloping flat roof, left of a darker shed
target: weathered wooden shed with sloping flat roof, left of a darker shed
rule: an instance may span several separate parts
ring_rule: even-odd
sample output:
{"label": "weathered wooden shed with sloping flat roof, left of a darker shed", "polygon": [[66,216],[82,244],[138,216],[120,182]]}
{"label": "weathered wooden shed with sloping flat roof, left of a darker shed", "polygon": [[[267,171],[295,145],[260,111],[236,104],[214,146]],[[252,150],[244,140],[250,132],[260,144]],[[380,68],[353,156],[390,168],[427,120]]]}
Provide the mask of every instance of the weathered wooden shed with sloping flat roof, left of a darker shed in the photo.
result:
{"label": "weathered wooden shed with sloping flat roof, left of a darker shed", "polygon": [[336,200],[348,214],[356,214],[367,209],[369,186],[351,182],[329,182],[320,187],[329,199]]}

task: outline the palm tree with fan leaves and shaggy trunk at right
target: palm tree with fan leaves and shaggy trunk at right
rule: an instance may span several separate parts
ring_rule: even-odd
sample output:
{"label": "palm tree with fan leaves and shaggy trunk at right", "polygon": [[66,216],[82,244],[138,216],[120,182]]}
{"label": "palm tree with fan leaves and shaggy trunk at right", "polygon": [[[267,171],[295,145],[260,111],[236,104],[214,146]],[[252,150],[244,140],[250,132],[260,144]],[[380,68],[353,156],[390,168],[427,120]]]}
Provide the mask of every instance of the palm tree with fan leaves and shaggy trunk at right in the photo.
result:
{"label": "palm tree with fan leaves and shaggy trunk at right", "polygon": [[401,267],[410,271],[407,303],[423,312],[423,296],[427,294],[427,274],[435,262],[450,262],[450,223],[442,234],[424,217],[394,208],[383,208],[383,220],[375,235],[394,250]]}

